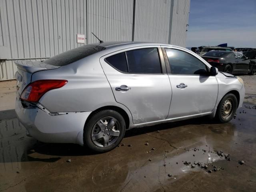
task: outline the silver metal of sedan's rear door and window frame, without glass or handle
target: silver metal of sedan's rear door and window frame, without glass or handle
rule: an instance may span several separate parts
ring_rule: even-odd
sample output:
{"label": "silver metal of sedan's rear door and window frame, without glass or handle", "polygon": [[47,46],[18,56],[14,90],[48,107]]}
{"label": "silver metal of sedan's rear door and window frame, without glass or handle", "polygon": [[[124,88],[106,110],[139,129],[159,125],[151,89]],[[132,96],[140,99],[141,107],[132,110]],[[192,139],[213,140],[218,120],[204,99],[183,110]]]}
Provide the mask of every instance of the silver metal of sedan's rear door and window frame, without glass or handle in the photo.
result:
{"label": "silver metal of sedan's rear door and window frame, without glass or handle", "polygon": [[[158,47],[158,46],[147,46]],[[144,48],[144,47],[136,47]],[[132,48],[134,49],[134,48]],[[172,91],[167,74],[126,74],[114,69],[104,61],[113,54],[131,50],[119,50],[100,58],[100,64],[112,88],[116,102],[126,106],[134,124],[164,120],[168,115]],[[126,85],[131,89],[118,92],[116,87]]]}

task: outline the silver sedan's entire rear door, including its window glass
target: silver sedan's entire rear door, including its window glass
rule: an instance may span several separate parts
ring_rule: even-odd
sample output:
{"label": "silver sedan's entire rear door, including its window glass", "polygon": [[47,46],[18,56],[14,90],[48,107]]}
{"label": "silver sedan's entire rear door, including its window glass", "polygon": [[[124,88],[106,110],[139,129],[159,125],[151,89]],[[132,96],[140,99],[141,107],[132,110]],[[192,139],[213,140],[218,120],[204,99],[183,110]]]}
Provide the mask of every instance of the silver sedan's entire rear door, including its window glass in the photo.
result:
{"label": "silver sedan's entire rear door, including its window glass", "polygon": [[168,116],[172,90],[160,53],[160,47],[137,47],[100,58],[116,102],[130,110],[134,124]]}

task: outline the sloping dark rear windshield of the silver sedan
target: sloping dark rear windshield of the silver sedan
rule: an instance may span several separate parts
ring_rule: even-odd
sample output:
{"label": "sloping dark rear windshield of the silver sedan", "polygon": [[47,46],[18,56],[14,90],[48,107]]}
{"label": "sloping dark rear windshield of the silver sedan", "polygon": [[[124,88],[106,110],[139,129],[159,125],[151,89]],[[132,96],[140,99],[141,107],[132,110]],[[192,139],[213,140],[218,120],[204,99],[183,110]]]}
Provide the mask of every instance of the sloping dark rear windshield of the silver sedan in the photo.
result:
{"label": "sloping dark rear windshield of the silver sedan", "polygon": [[54,57],[51,57],[44,61],[46,64],[55,65],[55,66],[64,66],[75,61],[78,61],[82,58],[90,56],[94,53],[104,50],[105,47],[97,45],[84,45],[72,50],[66,51],[64,53],[58,54]]}

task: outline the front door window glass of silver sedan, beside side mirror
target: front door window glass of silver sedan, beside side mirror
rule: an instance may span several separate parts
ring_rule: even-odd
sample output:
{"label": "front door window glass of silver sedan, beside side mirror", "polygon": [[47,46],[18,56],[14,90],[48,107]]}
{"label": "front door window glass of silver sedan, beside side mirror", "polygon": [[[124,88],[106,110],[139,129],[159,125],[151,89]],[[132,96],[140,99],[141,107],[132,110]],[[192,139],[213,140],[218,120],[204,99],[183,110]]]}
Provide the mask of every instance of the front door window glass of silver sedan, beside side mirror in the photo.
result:
{"label": "front door window glass of silver sedan, beside side mirror", "polygon": [[165,49],[172,74],[206,74],[204,63],[194,56],[175,49]]}

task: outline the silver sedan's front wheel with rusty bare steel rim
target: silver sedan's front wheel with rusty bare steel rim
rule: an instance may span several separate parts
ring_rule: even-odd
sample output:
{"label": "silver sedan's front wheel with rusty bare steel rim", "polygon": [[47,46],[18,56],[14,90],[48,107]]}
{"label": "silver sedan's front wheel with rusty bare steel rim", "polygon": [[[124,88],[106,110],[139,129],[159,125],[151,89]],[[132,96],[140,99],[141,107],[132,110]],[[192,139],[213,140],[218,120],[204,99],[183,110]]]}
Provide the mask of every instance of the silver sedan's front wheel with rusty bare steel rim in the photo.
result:
{"label": "silver sedan's front wheel with rusty bare steel rim", "polygon": [[221,123],[229,122],[234,117],[234,114],[236,114],[236,109],[236,96],[231,93],[226,94],[218,104],[215,118],[218,122]]}

